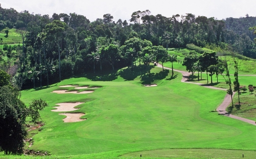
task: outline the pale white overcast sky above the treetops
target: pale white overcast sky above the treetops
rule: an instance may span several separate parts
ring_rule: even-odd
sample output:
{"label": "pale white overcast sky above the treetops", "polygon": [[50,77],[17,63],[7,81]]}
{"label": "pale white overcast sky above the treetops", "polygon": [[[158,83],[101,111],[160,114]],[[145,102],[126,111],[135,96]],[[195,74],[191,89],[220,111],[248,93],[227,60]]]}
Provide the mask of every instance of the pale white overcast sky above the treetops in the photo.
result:
{"label": "pale white overcast sky above the treetops", "polygon": [[256,0],[1,0],[2,8],[14,8],[18,12],[28,10],[34,14],[77,13],[91,22],[111,14],[114,19],[129,20],[134,11],[150,10],[152,15],[166,17],[192,13],[196,17],[215,17],[219,20],[228,17],[256,16]]}

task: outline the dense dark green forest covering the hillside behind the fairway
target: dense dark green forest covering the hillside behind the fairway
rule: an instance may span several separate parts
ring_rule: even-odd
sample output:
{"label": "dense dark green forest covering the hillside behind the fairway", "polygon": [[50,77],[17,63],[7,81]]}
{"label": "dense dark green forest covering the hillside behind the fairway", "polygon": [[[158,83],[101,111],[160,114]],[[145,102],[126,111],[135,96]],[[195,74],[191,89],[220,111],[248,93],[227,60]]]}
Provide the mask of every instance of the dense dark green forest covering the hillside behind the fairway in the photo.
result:
{"label": "dense dark green forest covering the hillside behind the fairway", "polygon": [[[29,77],[25,84],[39,78],[40,86],[87,71],[132,67],[136,61],[148,64],[153,55],[154,61],[165,62],[168,48],[187,44],[256,58],[256,36],[249,30],[254,26],[256,17],[249,15],[217,20],[192,13],[164,17],[145,10],[131,13],[129,20],[114,22],[111,14],[104,14],[90,22],[76,13],[34,15],[0,7],[0,30],[8,37],[15,29],[22,39],[0,39],[1,55],[16,57],[18,78]],[[20,45],[8,45],[12,43]],[[7,65],[3,63],[1,69],[7,71]]]}

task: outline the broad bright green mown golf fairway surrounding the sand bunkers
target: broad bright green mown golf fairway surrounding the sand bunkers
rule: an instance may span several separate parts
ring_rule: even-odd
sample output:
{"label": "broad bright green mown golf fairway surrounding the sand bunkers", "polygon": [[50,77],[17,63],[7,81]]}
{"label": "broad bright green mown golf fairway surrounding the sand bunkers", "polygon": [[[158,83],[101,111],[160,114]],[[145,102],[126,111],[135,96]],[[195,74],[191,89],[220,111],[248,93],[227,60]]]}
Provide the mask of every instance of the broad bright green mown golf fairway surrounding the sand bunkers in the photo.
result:
{"label": "broad bright green mown golf fairway surrounding the sand bunkers", "polygon": [[[212,112],[222,102],[224,91],[181,83],[181,74],[175,75],[166,80],[169,73],[152,88],[141,87],[139,77],[124,81],[124,74],[112,82],[71,78],[58,83],[103,86],[87,95],[50,93],[59,89],[57,85],[23,91],[27,104],[39,98],[50,104],[41,113],[46,125],[34,136],[32,149],[59,155],[106,152],[98,157],[169,148],[255,150],[254,126]],[[50,111],[56,103],[75,101],[87,101],[76,111],[86,113],[87,121],[63,123],[64,116]]]}

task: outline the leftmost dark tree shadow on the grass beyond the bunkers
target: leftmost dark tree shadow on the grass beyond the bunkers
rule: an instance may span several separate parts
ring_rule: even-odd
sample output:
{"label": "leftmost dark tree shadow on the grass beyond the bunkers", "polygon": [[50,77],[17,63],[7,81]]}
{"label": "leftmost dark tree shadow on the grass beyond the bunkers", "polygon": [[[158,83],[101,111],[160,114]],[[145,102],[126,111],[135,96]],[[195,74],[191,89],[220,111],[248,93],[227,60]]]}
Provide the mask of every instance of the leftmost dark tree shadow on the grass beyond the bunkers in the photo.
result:
{"label": "leftmost dark tree shadow on the grass beyond the bunkers", "polygon": [[88,73],[85,77],[92,81],[113,81],[117,79],[117,70],[104,71],[102,73]]}

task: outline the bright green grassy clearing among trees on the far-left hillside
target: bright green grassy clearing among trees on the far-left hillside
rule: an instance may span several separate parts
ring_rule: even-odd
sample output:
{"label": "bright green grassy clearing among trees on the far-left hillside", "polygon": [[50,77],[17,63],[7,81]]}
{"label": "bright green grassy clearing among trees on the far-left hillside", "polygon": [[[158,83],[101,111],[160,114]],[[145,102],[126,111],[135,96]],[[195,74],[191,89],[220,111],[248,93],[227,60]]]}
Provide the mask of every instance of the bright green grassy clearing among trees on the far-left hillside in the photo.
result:
{"label": "bright green grassy clearing among trees on the far-left hillside", "polygon": [[[8,36],[6,36],[4,31],[5,29],[0,31],[0,38],[3,39],[2,44],[22,43],[21,35],[16,29],[10,29]],[[0,46],[0,48],[2,48],[2,46]]]}

